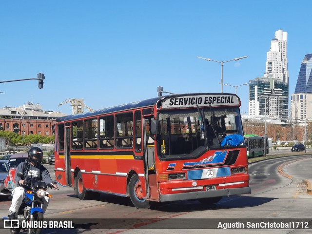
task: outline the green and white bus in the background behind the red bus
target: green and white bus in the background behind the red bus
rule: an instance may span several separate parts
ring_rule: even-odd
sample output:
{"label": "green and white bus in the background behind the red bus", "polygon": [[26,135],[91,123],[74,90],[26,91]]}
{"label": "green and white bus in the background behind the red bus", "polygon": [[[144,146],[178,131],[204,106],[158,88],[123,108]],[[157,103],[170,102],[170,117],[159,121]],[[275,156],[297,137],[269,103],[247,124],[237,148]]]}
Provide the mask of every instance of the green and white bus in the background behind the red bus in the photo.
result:
{"label": "green and white bus in the background behind the red bus", "polygon": [[264,148],[266,155],[269,154],[269,139],[266,137],[266,145],[264,145],[264,138],[255,134],[245,135],[248,157],[264,156]]}

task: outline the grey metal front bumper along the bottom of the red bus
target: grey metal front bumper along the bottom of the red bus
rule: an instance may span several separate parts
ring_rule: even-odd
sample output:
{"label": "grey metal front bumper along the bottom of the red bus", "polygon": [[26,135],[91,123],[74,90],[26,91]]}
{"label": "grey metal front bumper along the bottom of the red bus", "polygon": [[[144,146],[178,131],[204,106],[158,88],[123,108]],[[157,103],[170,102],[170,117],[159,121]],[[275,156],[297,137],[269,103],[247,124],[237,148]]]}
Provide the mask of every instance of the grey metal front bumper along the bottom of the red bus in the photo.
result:
{"label": "grey metal front bumper along the bottom of the red bus", "polygon": [[219,189],[211,191],[198,191],[180,194],[166,194],[160,195],[159,201],[180,201],[180,200],[195,200],[200,198],[209,198],[216,196],[230,196],[239,194],[251,194],[252,189],[250,187],[245,188],[232,188],[232,189]]}

